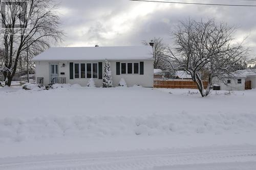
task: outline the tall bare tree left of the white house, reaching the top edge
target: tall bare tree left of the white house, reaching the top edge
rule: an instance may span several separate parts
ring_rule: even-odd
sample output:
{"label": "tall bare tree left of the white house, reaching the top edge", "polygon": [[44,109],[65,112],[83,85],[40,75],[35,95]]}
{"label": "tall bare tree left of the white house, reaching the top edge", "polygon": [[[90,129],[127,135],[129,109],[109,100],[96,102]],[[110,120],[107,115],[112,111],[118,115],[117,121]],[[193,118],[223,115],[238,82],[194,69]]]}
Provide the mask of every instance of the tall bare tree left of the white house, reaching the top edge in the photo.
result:
{"label": "tall bare tree left of the white house, reaching the top edge", "polygon": [[61,40],[57,5],[51,0],[0,0],[0,15],[5,57],[1,72],[10,86],[19,60],[30,53],[38,53]]}

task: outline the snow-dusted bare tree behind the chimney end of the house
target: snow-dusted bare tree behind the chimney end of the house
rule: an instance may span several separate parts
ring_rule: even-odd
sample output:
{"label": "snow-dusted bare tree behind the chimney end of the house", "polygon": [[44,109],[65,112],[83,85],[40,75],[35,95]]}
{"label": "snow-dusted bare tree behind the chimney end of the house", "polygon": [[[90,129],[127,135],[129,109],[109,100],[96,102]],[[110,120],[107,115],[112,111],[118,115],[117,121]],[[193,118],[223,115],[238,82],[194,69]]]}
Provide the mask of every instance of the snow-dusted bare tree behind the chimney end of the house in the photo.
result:
{"label": "snow-dusted bare tree behind the chimney end of the house", "polygon": [[[153,46],[153,58],[154,58],[154,68],[160,68],[162,69],[163,65],[165,64],[165,60],[163,58],[165,57],[164,52],[166,49],[166,45],[163,43],[162,38],[156,38],[154,37],[151,42],[154,42]],[[142,41],[144,45],[150,45],[150,42]]]}

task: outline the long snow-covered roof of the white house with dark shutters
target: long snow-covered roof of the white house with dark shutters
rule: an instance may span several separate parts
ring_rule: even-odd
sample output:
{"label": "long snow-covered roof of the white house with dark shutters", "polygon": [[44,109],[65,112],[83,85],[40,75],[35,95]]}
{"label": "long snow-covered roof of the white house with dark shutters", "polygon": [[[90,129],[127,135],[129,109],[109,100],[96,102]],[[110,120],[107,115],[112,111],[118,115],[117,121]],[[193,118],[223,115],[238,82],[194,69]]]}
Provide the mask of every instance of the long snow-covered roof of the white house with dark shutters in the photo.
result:
{"label": "long snow-covered roof of the white house with dark shutters", "polygon": [[52,47],[32,61],[152,59],[151,46]]}

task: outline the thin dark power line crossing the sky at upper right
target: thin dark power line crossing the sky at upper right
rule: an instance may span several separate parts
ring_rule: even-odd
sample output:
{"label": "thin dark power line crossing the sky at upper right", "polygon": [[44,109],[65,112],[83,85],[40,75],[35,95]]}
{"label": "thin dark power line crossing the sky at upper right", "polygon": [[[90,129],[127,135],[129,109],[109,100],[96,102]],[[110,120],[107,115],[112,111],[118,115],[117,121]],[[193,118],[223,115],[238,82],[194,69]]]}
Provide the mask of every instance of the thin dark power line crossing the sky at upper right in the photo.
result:
{"label": "thin dark power line crossing the sky at upper right", "polygon": [[170,1],[149,1],[149,0],[129,0],[147,3],[169,3],[169,4],[185,4],[185,5],[210,5],[210,6],[229,6],[229,7],[256,7],[256,5],[239,5],[239,4],[206,4],[206,3],[184,3],[184,2],[170,2]]}

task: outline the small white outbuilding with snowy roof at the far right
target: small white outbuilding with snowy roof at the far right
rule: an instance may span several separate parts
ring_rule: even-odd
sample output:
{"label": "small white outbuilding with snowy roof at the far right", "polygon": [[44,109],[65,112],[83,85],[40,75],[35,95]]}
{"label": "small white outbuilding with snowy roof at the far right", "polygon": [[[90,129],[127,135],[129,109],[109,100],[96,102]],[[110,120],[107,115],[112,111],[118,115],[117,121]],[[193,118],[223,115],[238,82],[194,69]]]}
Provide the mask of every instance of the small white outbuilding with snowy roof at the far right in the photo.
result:
{"label": "small white outbuilding with snowy roof at the far right", "polygon": [[225,78],[224,82],[214,80],[215,86],[220,86],[221,90],[248,90],[256,88],[256,70],[238,70],[232,78]]}

